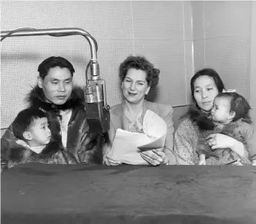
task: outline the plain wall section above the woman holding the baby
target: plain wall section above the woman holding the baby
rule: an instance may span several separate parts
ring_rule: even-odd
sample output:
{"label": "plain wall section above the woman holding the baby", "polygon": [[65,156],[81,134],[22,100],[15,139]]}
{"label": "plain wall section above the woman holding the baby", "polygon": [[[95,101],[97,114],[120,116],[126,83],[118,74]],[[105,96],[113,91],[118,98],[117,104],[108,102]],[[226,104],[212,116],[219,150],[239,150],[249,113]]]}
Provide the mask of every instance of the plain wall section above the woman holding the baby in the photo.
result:
{"label": "plain wall section above the woman holding the baby", "polygon": [[226,89],[250,99],[250,1],[191,2],[194,68],[211,67]]}

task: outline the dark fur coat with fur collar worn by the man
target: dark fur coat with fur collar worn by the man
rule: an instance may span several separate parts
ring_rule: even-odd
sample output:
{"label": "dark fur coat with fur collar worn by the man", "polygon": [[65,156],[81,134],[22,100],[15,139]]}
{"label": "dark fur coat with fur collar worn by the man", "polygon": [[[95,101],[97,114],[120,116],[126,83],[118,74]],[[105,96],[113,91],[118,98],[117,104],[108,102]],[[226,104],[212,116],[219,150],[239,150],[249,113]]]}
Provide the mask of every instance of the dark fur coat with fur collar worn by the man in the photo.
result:
{"label": "dark fur coat with fur collar worn by the man", "polygon": [[[52,132],[52,140],[49,144],[58,145],[58,150],[62,150],[62,155],[65,158],[64,161],[62,159],[60,159],[59,162],[55,160],[56,163],[102,163],[103,135],[90,132],[89,130],[84,109],[83,89],[79,87],[73,88],[71,96],[64,105],[54,105],[45,102],[44,94],[39,86],[35,86],[35,88],[32,89],[26,100],[29,102],[29,106],[42,109],[48,116],[49,129]],[[64,149],[62,146],[60,129],[62,116],[59,111],[66,109],[72,109],[72,115],[69,119],[67,143],[66,148]],[[17,157],[19,159],[16,161],[22,161],[22,158],[24,157],[23,154],[26,151],[21,149],[21,145],[15,143],[17,140],[18,139],[16,139],[12,132],[12,125],[10,125],[1,139],[2,164],[7,164],[9,159],[17,159]],[[10,152],[10,150],[12,150],[12,152]],[[53,151],[51,150],[56,150],[55,146],[53,146],[53,149],[51,145],[43,150],[42,157],[44,158],[45,163],[47,163],[46,161],[52,161]],[[10,155],[12,156],[9,157]],[[62,156],[57,156],[55,158],[62,158]],[[42,161],[41,158],[38,159]]]}

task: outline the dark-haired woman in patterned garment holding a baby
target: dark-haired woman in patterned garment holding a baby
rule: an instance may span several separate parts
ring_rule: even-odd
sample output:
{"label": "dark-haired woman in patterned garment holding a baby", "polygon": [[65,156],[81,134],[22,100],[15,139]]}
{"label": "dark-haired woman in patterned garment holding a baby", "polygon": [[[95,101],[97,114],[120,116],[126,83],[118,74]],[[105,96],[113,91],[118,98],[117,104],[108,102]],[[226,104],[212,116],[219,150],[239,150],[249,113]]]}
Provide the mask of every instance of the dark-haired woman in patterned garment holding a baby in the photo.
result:
{"label": "dark-haired woman in patterned garment holding a baby", "polygon": [[[195,165],[199,162],[197,154],[198,116],[211,115],[215,97],[223,92],[224,84],[220,76],[213,69],[202,69],[197,72],[190,81],[193,104],[190,106],[186,119],[180,123],[175,132],[174,152],[177,155],[177,163],[180,165]],[[250,125],[248,125],[250,127]],[[251,130],[251,131],[250,131]],[[248,141],[253,142],[253,129],[246,130]],[[214,133],[206,137],[207,145],[211,149],[231,149],[241,159],[242,163],[248,162],[248,153],[251,158],[253,152],[248,152],[248,142],[241,142],[229,135]]]}

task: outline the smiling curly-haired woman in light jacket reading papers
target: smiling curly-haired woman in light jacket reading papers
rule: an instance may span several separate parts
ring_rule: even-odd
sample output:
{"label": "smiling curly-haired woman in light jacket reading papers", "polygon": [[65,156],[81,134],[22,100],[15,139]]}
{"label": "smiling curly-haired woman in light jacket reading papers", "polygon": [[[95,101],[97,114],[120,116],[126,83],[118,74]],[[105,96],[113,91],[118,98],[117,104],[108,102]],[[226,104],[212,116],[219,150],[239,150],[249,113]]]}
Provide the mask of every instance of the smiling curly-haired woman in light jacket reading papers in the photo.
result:
{"label": "smiling curly-haired woman in light jacket reading papers", "polygon": [[155,69],[147,59],[140,56],[129,56],[121,63],[119,75],[124,100],[110,109],[109,144],[105,145],[103,149],[103,162],[106,165],[121,164],[120,161],[111,158],[109,154],[116,129],[143,132],[143,117],[147,110],[156,113],[167,123],[167,136],[163,149],[140,152],[141,157],[150,165],[176,164],[176,157],[173,154],[173,109],[170,105],[145,100],[145,95],[157,85],[159,73],[159,69]]}

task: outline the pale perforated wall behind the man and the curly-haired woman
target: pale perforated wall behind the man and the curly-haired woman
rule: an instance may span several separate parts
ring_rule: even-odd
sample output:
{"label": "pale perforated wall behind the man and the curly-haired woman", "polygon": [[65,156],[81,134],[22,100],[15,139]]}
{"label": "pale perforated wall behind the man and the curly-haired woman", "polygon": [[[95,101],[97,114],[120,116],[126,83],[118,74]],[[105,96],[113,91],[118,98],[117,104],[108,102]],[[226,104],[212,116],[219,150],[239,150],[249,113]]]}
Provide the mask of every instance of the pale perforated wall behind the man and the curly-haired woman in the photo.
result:
{"label": "pale perforated wall behind the man and the curly-haired woman", "polygon": [[[170,105],[190,103],[193,74],[190,2],[173,1],[1,1],[1,28],[83,28],[99,44],[100,75],[109,105],[122,101],[118,67],[127,55],[145,55],[160,69],[150,98]],[[10,125],[26,107],[43,59],[62,55],[74,65],[74,81],[86,83],[89,44],[80,36],[13,37],[2,42],[1,122]]]}

